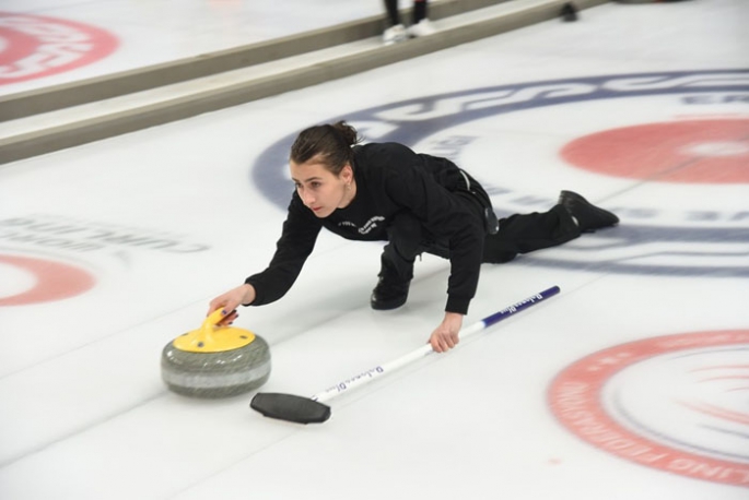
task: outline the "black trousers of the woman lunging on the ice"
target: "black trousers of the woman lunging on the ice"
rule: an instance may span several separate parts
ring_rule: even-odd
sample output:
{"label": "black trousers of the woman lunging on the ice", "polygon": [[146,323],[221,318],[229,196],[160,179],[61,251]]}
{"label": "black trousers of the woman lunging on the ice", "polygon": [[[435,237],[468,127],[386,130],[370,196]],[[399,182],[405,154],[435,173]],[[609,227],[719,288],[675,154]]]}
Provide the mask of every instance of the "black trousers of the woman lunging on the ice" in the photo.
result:
{"label": "black trousers of the woman lunging on the ice", "polygon": [[[477,217],[482,217],[482,207],[465,198],[475,210]],[[395,273],[399,279],[413,277],[413,261],[420,253],[431,253],[449,259],[447,241],[435,239],[424,229],[418,218],[408,212],[395,217],[387,229],[388,243],[383,250],[383,273]],[[495,235],[485,235],[482,262],[503,263],[515,259],[518,253],[555,247],[580,236],[581,231],[570,213],[562,205],[555,205],[548,212],[516,214],[500,219],[500,230]]]}

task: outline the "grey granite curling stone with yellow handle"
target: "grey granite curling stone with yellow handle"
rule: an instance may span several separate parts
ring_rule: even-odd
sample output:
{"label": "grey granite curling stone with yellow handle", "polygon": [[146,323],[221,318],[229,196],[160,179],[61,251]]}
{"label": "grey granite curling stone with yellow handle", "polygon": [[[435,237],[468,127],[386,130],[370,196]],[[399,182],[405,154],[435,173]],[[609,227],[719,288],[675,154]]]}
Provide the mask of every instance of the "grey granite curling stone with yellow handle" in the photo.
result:
{"label": "grey granite curling stone with yellow handle", "polygon": [[221,309],[199,330],[169,342],[161,376],[169,390],[192,397],[229,397],[257,389],[270,377],[270,349],[248,330],[220,326]]}

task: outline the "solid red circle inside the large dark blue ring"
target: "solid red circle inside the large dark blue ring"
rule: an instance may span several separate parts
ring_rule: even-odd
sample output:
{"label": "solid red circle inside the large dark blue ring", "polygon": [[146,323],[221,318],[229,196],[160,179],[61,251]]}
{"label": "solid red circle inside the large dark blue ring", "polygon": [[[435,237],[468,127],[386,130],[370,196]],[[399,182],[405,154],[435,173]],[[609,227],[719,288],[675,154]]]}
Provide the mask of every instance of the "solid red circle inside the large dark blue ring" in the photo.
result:
{"label": "solid red circle inside the large dark blue ring", "polygon": [[560,152],[597,174],[662,182],[749,182],[749,120],[648,123],[585,135]]}

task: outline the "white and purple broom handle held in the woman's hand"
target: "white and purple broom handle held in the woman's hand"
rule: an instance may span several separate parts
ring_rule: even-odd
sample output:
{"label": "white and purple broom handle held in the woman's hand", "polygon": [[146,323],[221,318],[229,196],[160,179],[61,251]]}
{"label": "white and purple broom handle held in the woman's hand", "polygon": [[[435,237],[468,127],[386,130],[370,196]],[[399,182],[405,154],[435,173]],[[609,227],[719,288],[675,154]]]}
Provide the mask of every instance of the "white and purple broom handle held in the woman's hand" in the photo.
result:
{"label": "white and purple broom handle held in the woman's hand", "polygon": [[[519,302],[513,303],[510,307],[506,307],[502,309],[501,311],[495,312],[492,316],[488,316],[487,318],[482,319],[481,321],[478,321],[470,326],[467,326],[465,329],[460,330],[460,338],[465,340],[469,337],[470,335],[473,335],[477,332],[480,332],[482,330],[485,330],[487,328],[493,325],[494,323],[498,323],[516,312],[519,312],[526,308],[529,308],[530,306],[534,306],[535,303],[540,302],[541,300],[552,297],[554,295],[559,294],[559,287],[558,286],[552,286],[549,289],[546,289],[539,294],[533,295],[525,300],[520,300]],[[350,379],[343,380],[336,385],[319,392],[311,397],[313,401],[317,401],[319,403],[326,402],[328,400],[332,400],[337,395],[348,392],[352,389],[360,388],[368,382],[372,382],[374,379],[377,379],[385,373],[389,373],[391,371],[395,371],[399,368],[402,368],[407,365],[410,365],[413,361],[417,361],[425,356],[429,356],[430,354],[434,353],[432,349],[431,344],[426,344],[422,347],[419,347],[418,349],[406,354],[397,359],[394,359],[391,361],[388,361],[384,365],[378,365],[370,370],[363,371],[359,373],[358,376],[351,377]]]}

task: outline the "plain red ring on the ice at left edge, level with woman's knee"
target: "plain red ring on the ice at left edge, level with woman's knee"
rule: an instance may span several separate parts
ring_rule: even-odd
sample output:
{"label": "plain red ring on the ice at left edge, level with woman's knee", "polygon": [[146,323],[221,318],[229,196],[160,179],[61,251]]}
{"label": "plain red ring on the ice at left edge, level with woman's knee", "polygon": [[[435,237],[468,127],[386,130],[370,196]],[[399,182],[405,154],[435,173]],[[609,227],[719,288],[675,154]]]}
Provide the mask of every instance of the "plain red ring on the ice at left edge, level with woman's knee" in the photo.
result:
{"label": "plain red ring on the ice at left edge, level with woman's knee", "polygon": [[21,294],[0,297],[0,307],[62,300],[90,290],[96,283],[87,271],[61,262],[0,255],[0,263],[22,269],[34,275],[36,281],[32,288]]}

